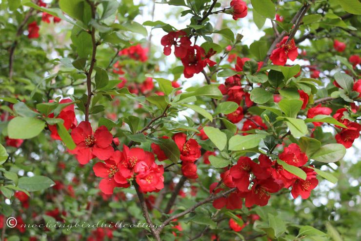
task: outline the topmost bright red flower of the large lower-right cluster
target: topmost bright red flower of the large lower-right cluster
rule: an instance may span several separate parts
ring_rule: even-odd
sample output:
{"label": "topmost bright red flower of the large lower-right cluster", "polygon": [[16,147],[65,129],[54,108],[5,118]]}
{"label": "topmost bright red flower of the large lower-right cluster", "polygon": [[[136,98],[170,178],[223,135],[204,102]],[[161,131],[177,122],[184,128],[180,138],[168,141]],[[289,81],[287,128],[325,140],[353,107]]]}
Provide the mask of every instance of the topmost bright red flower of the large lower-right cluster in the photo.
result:
{"label": "topmost bright red flower of the large lower-right cluster", "polygon": [[288,147],[285,147],[283,152],[279,154],[279,157],[287,164],[296,167],[303,166],[308,160],[306,153],[301,153],[301,149],[296,143],[292,143]]}

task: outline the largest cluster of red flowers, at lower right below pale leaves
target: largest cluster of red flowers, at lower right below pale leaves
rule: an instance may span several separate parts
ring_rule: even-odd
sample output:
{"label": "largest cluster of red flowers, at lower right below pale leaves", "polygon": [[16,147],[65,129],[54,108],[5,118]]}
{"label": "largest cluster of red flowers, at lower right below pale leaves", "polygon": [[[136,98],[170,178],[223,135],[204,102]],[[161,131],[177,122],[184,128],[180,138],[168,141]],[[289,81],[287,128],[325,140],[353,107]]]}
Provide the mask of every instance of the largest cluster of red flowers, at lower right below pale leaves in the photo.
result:
{"label": "largest cluster of red flowers, at lower right below pale leaves", "polygon": [[[221,209],[224,206],[227,209],[237,209],[242,207],[241,198],[245,198],[246,207],[253,205],[264,206],[268,203],[271,193],[277,193],[281,188],[292,186],[291,194],[294,198],[301,195],[303,199],[310,196],[311,190],[318,185],[316,179],[317,173],[311,168],[304,166],[308,160],[305,153],[301,152],[297,144],[290,144],[279,154],[279,158],[289,165],[302,169],[307,175],[303,180],[300,177],[286,171],[277,161],[261,154],[258,157],[259,163],[251,160],[246,156],[241,156],[237,164],[221,174],[222,183],[225,187],[237,190],[227,197],[221,197],[214,200],[213,206]],[[254,178],[250,180],[250,175]],[[253,183],[251,189],[250,183]],[[215,182],[210,186],[210,193],[217,194],[224,190],[224,187],[218,189],[218,183]]]}

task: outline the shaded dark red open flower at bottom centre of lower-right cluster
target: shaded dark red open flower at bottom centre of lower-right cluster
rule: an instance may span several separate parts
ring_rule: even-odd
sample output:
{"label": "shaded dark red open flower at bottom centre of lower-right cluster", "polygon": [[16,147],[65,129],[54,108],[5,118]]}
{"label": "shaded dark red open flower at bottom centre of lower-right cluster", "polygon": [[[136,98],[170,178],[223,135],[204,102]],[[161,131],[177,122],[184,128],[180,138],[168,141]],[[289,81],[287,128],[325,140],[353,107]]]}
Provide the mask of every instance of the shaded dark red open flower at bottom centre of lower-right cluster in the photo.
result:
{"label": "shaded dark red open flower at bottom centre of lower-right cluster", "polygon": [[282,186],[276,183],[272,178],[264,180],[253,180],[253,186],[250,191],[241,193],[241,197],[245,197],[246,207],[252,207],[254,204],[259,206],[265,206],[268,203],[268,199],[271,197],[270,193],[277,193]]}

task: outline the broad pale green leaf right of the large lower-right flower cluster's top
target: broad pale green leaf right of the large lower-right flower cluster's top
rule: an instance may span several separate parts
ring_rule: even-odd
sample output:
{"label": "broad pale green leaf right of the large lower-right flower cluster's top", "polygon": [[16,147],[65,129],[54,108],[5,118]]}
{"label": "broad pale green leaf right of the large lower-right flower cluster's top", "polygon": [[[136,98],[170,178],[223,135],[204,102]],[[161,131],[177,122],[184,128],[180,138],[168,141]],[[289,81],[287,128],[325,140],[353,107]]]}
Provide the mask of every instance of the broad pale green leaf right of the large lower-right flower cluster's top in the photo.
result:
{"label": "broad pale green leaf right of the large lower-right flower cluster's top", "polygon": [[326,144],[322,146],[318,151],[313,153],[309,159],[316,161],[330,163],[341,160],[346,154],[346,148],[342,144]]}

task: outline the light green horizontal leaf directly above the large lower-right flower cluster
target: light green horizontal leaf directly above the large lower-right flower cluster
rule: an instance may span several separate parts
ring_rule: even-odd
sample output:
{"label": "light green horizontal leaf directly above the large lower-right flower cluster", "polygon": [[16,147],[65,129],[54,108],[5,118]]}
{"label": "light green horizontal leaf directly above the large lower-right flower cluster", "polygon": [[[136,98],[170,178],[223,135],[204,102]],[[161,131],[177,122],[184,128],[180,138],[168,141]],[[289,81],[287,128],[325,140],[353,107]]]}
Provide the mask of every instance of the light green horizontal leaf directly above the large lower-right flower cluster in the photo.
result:
{"label": "light green horizontal leaf directly above the large lower-right flower cluster", "polygon": [[230,151],[242,151],[257,147],[265,134],[235,135],[229,139],[228,149]]}

